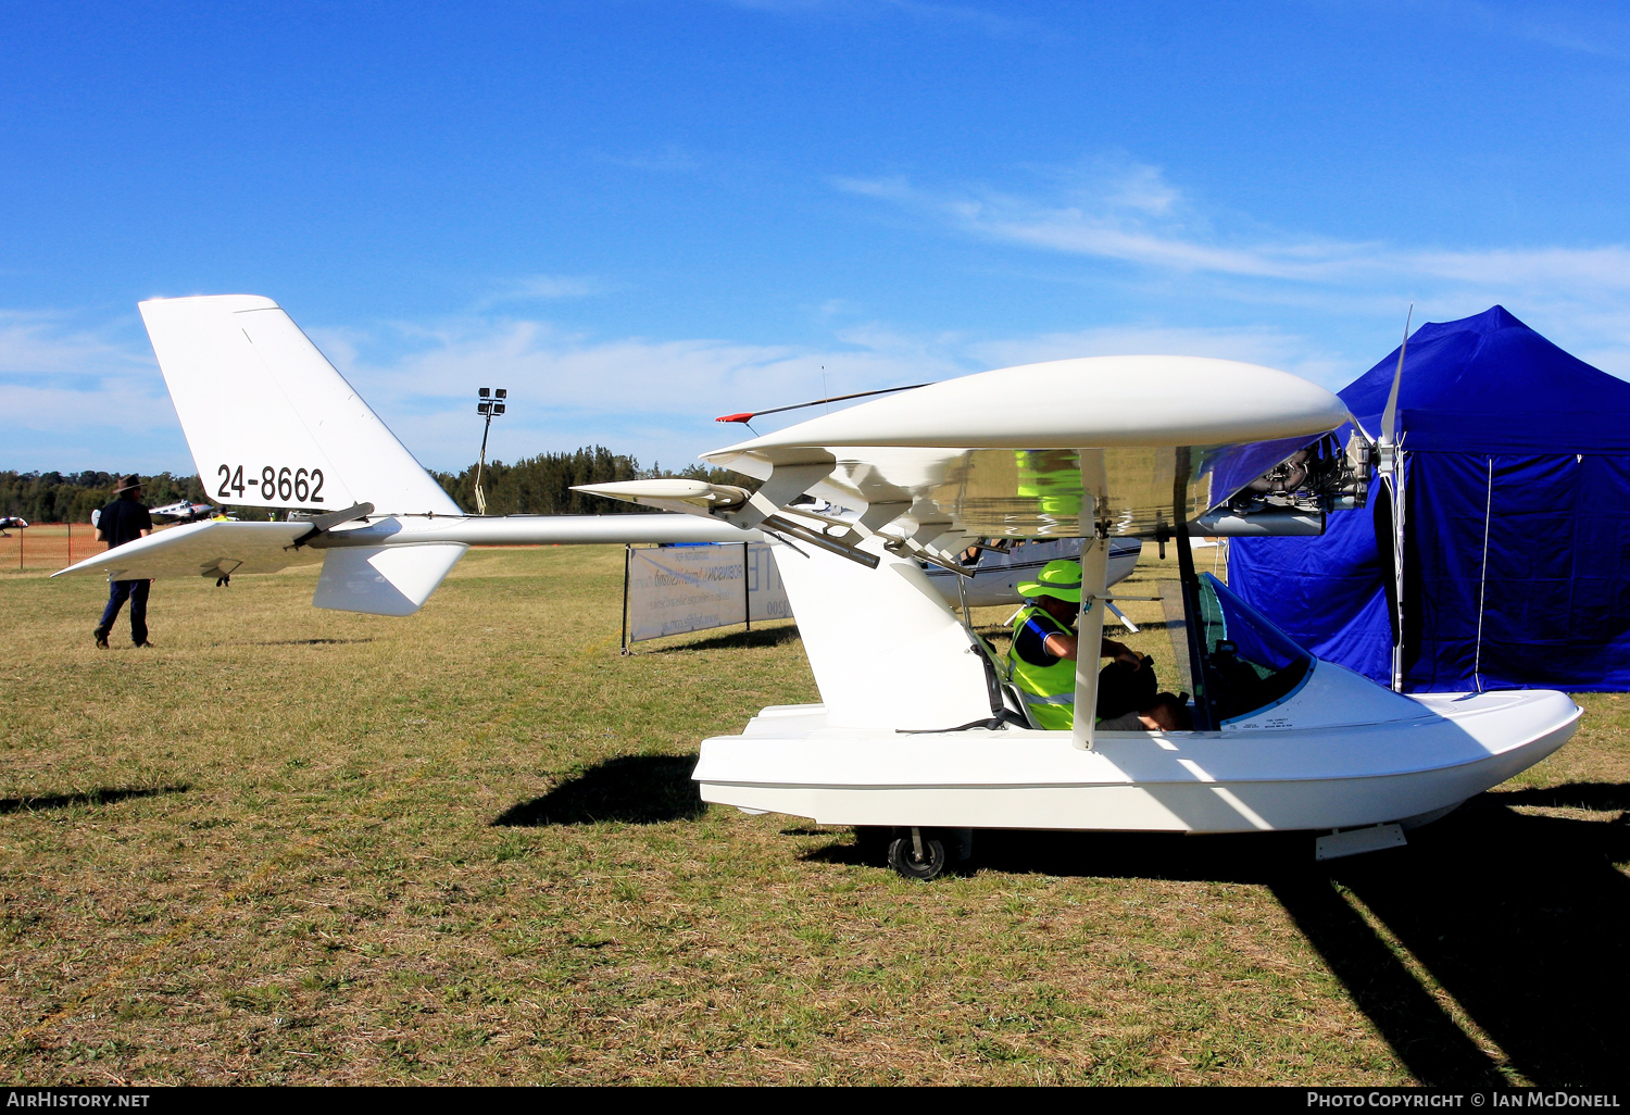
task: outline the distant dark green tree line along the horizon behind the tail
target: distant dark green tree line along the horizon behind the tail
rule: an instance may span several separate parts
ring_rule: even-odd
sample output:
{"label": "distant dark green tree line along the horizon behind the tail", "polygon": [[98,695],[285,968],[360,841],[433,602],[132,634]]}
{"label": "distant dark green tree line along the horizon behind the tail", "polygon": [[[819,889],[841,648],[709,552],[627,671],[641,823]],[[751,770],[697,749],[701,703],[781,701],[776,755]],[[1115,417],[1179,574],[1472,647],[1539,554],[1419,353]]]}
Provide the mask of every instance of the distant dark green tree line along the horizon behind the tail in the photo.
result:
{"label": "distant dark green tree line along the horizon behind the tail", "polygon": [[[476,466],[458,473],[430,476],[463,510],[476,510]],[[626,453],[613,453],[603,445],[585,447],[572,453],[540,453],[513,465],[489,461],[482,471],[481,487],[487,496],[489,515],[615,515],[641,512],[634,504],[584,496],[574,492],[574,484],[608,484],[624,479],[654,479],[683,476],[712,484],[740,484],[758,487],[758,481],[732,473],[727,468],[703,468],[691,465],[678,473],[660,465],[641,469],[639,461]],[[112,473],[18,473],[0,471],[0,515],[21,515],[31,523],[88,523],[91,512],[112,500],[119,478]],[[215,502],[197,476],[171,476],[156,473],[142,476],[142,502],[161,507],[189,499],[197,504]],[[267,518],[264,507],[231,507],[238,518]]]}

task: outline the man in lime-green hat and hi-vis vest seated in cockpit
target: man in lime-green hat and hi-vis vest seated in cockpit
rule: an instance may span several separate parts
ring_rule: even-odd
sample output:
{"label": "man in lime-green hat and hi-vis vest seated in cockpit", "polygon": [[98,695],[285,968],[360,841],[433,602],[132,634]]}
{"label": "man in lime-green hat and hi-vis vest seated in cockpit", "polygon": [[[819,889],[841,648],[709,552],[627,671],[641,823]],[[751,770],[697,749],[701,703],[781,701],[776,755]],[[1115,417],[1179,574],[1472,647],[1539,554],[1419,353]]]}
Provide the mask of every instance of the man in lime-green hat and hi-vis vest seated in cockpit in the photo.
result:
{"label": "man in lime-green hat and hi-vis vest seated in cockpit", "polygon": [[[1042,567],[1035,580],[1020,580],[1019,595],[1030,600],[1019,615],[1014,616],[1014,641],[1007,649],[1007,673],[1019,686],[1030,719],[1037,727],[1068,732],[1076,725],[1076,657],[1079,639],[1076,636],[1076,615],[1081,611],[1081,562],[1050,561]],[[1115,709],[1108,719],[1099,722],[1100,729],[1110,732],[1143,732],[1174,730],[1177,714],[1174,706],[1177,698],[1169,693],[1156,694],[1154,667],[1146,659],[1123,642],[1104,639],[1099,654],[1115,659],[1105,670],[1144,676],[1143,685],[1133,690],[1148,690],[1148,694],[1133,698],[1130,709]],[[1102,683],[1100,683],[1102,685]],[[1128,686],[1115,686],[1126,690]],[[1104,709],[1104,701],[1099,703]]]}

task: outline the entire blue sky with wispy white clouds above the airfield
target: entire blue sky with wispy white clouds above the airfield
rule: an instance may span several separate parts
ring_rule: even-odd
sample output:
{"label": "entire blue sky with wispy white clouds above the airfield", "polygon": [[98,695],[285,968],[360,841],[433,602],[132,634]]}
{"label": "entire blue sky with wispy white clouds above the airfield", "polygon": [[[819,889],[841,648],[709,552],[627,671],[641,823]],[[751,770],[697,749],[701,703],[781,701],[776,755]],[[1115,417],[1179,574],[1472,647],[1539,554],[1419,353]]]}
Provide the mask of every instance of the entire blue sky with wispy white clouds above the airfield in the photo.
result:
{"label": "entire blue sky with wispy white clouds above the airfield", "polygon": [[135,303],[275,298],[432,468],[1108,352],[1630,373],[1615,5],[0,5],[0,468],[192,471]]}

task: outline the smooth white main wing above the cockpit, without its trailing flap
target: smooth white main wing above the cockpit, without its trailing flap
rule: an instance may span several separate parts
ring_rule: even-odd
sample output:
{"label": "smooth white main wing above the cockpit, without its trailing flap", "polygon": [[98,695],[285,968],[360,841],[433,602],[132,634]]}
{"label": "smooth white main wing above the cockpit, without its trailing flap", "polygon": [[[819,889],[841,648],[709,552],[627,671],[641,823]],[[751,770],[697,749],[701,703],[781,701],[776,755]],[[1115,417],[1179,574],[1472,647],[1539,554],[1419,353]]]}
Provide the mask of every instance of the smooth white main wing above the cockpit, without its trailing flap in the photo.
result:
{"label": "smooth white main wing above the cockpit, without its trailing flap", "polygon": [[1082,450],[1094,450],[1097,522],[1152,536],[1175,527],[1174,494],[1177,513],[1198,518],[1345,421],[1335,394],[1273,368],[1087,357],[936,383],[703,456],[766,479],[826,465],[807,491],[908,507],[967,535],[1081,538],[1092,533],[1081,522]]}

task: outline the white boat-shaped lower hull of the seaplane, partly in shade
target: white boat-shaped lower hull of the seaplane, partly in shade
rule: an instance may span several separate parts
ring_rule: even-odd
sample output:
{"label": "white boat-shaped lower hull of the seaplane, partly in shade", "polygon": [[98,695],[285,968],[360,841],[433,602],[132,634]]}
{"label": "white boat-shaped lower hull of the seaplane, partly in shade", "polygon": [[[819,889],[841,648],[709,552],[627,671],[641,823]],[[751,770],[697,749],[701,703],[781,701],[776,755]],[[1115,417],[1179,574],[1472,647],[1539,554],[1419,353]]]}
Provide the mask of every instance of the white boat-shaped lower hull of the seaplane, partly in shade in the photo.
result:
{"label": "white boat-shaped lower hull of the seaplane, partly in shade", "polygon": [[1415,701],[1418,719],[1104,732],[1090,751],[1068,732],[828,729],[820,706],[784,706],[706,740],[694,778],[704,800],[823,825],[1332,830],[1452,809],[1560,748],[1579,717],[1550,691]]}

